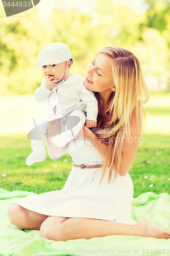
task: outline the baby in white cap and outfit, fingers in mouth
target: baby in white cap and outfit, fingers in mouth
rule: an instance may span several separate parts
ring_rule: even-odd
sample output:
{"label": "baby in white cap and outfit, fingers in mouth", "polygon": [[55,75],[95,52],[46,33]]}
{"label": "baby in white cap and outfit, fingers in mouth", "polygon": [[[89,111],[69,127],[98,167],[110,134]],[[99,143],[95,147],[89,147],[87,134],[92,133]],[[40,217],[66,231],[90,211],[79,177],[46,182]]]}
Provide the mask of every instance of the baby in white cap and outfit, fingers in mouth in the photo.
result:
{"label": "baby in white cap and outfit, fingers in mouth", "polygon": [[65,132],[59,134],[59,127],[60,132],[56,131],[55,134],[59,135],[52,139],[55,145],[63,147],[76,137],[84,123],[87,127],[96,127],[98,115],[98,101],[93,92],[84,87],[84,77],[70,73],[74,60],[67,45],[54,42],[44,47],[38,54],[38,60],[35,67],[42,68],[45,78],[42,79],[41,86],[35,90],[35,98],[40,103],[48,100],[47,118],[43,125],[30,132],[33,153],[26,159],[27,165],[41,162],[46,158],[44,138],[47,122],[53,124],[56,119],[64,119],[64,122],[59,123],[60,126],[65,126]]}

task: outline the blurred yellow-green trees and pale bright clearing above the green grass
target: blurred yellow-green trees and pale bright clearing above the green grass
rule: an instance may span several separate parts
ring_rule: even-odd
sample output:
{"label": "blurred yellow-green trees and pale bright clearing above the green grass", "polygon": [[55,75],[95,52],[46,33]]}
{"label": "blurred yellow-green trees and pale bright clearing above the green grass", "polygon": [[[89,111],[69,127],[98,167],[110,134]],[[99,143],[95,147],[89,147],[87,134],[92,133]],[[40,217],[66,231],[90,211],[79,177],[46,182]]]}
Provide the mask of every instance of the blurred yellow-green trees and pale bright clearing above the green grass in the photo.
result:
{"label": "blurred yellow-green trees and pale bright clearing above the green grass", "polygon": [[169,0],[41,0],[36,7],[8,18],[0,3],[0,20],[0,95],[25,95],[1,99],[5,111],[0,117],[5,122],[0,132],[24,132],[21,113],[35,103],[34,97],[26,95],[32,95],[42,79],[41,69],[34,67],[38,52],[55,41],[70,47],[75,59],[71,70],[84,76],[101,48],[132,51],[150,91],[157,92],[147,105],[147,113],[154,116],[148,119],[148,127],[169,132],[169,97],[154,97],[170,95]]}

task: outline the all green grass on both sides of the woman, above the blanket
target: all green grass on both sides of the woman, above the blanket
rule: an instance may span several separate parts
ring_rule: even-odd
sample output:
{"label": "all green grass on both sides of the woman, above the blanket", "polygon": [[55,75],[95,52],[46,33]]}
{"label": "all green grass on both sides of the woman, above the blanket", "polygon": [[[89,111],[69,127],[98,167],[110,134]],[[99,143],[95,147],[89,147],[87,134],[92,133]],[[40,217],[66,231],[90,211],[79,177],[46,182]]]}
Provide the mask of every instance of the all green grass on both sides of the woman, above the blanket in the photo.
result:
{"label": "all green grass on both sides of the woman, above the blanket", "polygon": [[[148,191],[155,194],[169,193],[170,190],[170,136],[143,135],[138,152],[129,174],[134,183],[134,197]],[[25,190],[44,193],[61,189],[72,167],[71,158],[64,155],[53,161],[32,166],[25,164],[31,153],[30,140],[15,135],[0,139],[0,186],[8,191]],[[144,176],[148,176],[145,179]],[[154,176],[152,180],[150,176]],[[153,184],[153,187],[149,185]]]}

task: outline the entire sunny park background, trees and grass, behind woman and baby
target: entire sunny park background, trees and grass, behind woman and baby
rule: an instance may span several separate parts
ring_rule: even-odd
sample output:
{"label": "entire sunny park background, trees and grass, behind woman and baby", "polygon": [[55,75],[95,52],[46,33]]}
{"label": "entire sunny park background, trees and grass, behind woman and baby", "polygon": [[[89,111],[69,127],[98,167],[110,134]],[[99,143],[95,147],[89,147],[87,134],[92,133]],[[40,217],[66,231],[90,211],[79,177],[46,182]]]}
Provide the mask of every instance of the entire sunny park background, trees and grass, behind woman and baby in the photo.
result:
{"label": "entire sunny park background, trees and grass, behind woman and baby", "polygon": [[26,11],[5,16],[0,3],[0,187],[43,193],[61,189],[72,161],[27,166],[30,140],[23,112],[35,103],[41,69],[38,52],[64,42],[74,57],[72,72],[86,76],[93,55],[105,46],[127,48],[140,60],[151,91],[147,123],[130,170],[134,197],[147,191],[169,193],[170,2],[167,0],[41,0]]}

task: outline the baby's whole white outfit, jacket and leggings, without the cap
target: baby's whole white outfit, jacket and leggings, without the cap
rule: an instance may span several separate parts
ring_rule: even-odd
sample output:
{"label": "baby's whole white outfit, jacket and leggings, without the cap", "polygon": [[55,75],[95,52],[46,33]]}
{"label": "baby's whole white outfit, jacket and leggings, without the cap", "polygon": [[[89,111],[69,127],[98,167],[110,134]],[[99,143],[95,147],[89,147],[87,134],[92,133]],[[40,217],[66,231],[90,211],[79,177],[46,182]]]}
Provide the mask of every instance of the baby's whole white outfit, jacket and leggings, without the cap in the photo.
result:
{"label": "baby's whole white outfit, jacket and leggings, without the cap", "polygon": [[[31,165],[37,161],[43,161],[45,159],[46,150],[44,137],[47,132],[47,121],[53,121],[67,115],[80,118],[80,122],[77,124],[77,126],[73,127],[71,131],[69,130],[59,135],[60,137],[62,136],[60,141],[59,136],[53,138],[53,143],[56,142],[56,139],[57,142],[60,142],[60,144],[55,143],[58,146],[64,146],[66,143],[68,143],[68,141],[64,141],[65,137],[63,137],[66,133],[67,137],[70,138],[69,141],[74,139],[76,134],[81,130],[86,119],[96,121],[98,115],[98,101],[96,100],[93,92],[84,87],[84,77],[77,73],[71,74],[72,75],[67,80],[57,83],[52,90],[48,90],[45,87],[45,78],[43,78],[41,86],[35,90],[35,98],[37,102],[46,103],[46,101],[48,101],[48,107],[46,109],[47,119],[46,122],[41,124],[40,128],[37,127],[36,130],[37,138],[41,137],[42,139],[32,139],[35,137],[35,133],[34,136],[31,136],[31,148],[33,153],[30,154],[26,160],[26,164],[28,165]],[[53,112],[54,106],[56,106],[56,114]],[[86,112],[86,116],[83,112]],[[60,127],[60,130],[63,130],[62,128],[63,127]],[[33,154],[37,156],[36,159],[33,158]]]}

